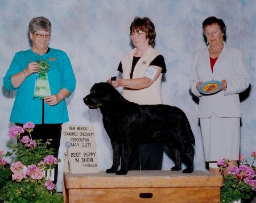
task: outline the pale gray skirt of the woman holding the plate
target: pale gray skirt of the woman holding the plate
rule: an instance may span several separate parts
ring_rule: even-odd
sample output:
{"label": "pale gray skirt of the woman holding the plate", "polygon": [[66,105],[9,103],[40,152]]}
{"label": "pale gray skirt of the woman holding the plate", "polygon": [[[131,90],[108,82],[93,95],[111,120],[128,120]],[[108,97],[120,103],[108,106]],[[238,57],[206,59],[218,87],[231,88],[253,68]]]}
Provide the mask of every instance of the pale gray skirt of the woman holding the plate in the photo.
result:
{"label": "pale gray skirt of the woman holding the plate", "polygon": [[205,161],[239,160],[240,118],[200,118]]}

